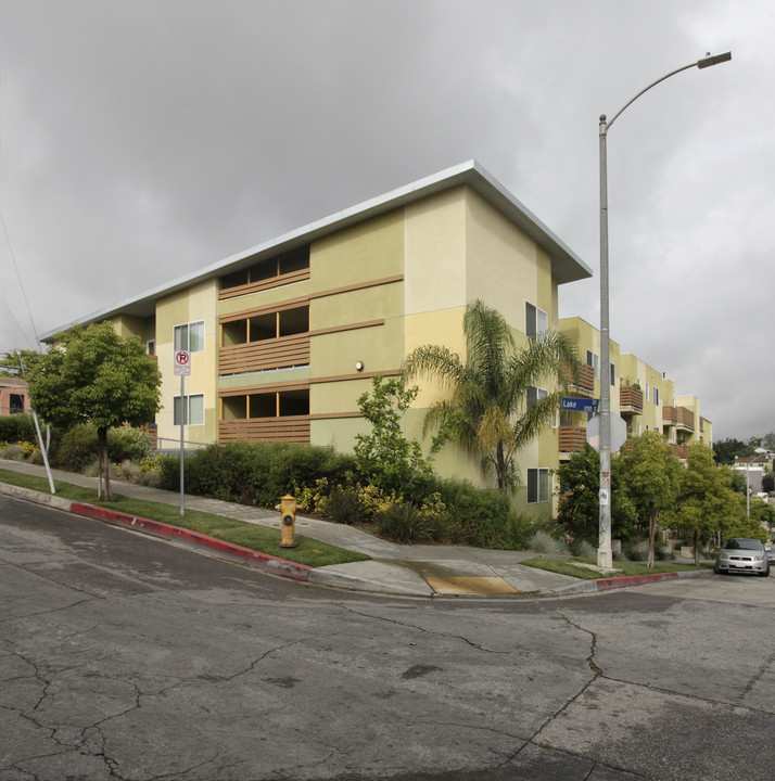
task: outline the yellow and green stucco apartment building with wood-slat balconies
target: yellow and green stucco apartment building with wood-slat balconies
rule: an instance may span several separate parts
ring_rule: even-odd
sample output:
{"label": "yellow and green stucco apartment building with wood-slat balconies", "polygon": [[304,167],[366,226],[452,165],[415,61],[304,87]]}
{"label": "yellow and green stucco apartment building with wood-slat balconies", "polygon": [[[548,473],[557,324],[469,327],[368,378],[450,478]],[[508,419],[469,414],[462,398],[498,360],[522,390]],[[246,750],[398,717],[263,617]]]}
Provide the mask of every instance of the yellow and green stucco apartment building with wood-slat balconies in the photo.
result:
{"label": "yellow and green stucco apartment building with wood-slat balconies", "polygon": [[[477,298],[500,311],[518,340],[547,328],[571,333],[589,364],[572,390],[599,393],[599,334],[557,315],[559,285],[590,276],[557,235],[470,162],[78,322],[109,320],[156,356],[163,375],[157,434],[167,447],[179,438],[185,406],[190,441],[293,440],[346,452],[366,431],[357,399],[371,377],[399,374],[421,344],[462,354],[462,315]],[[180,349],[191,354],[183,399],[174,372]],[[672,383],[635,357],[615,355],[612,409],[627,415],[633,434],[661,427],[676,445],[696,438],[699,402],[675,397]],[[646,386],[643,398],[633,394],[627,401],[621,377]],[[437,394],[422,387],[405,419],[407,436],[423,441],[424,410]],[[560,458],[583,445],[583,425],[558,415],[519,453],[528,487],[522,502],[551,511],[552,473]],[[482,479],[478,460],[452,446],[434,466]]]}

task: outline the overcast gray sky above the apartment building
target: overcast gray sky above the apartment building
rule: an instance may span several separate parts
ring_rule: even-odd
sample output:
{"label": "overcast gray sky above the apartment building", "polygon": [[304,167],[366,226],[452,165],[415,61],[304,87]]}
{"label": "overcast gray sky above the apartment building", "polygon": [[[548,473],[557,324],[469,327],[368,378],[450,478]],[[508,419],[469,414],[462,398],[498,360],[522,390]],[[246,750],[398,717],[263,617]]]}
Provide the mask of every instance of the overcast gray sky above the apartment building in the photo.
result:
{"label": "overcast gray sky above the apartment building", "polygon": [[773,40],[772,0],[0,0],[0,351],[471,158],[597,327],[598,117],[732,50],[611,128],[611,336],[765,434]]}

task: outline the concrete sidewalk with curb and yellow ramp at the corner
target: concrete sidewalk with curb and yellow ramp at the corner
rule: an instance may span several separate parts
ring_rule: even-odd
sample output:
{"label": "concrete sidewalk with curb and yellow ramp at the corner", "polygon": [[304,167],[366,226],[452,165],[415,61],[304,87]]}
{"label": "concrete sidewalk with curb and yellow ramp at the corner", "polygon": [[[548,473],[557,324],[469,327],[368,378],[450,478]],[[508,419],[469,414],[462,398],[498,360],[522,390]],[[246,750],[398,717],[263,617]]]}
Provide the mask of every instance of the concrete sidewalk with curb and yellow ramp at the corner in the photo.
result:
{"label": "concrete sidewalk with curb and yellow ramp at the corner", "polygon": [[[16,461],[0,459],[0,468],[41,477],[46,476],[42,466]],[[53,477],[55,481],[97,488],[96,477],[86,477],[85,475],[59,470],[53,470]],[[180,495],[173,491],[118,481],[114,484],[114,490],[136,499],[174,504],[176,507],[180,504]],[[79,504],[50,495],[18,489],[4,484],[0,484],[0,492],[10,494],[28,501],[40,501],[68,512],[76,512],[110,523],[129,526],[136,530],[205,546],[220,555],[239,556],[276,575],[294,577],[321,586],[374,593],[404,597],[456,596],[492,598],[494,596],[519,597],[524,594],[548,597],[592,593],[656,580],[712,574],[712,571],[702,571],[700,573],[646,575],[635,578],[605,578],[601,575],[599,580],[579,580],[566,575],[522,565],[520,562],[535,556],[535,553],[530,551],[487,550],[466,546],[397,545],[373,537],[352,526],[297,516],[297,535],[365,553],[371,558],[370,561],[366,562],[312,568],[284,562],[275,556],[252,554],[244,549],[238,549],[236,546],[218,543],[212,538],[182,532],[166,524],[145,522],[142,518],[131,518],[129,516],[118,517],[122,515],[120,513],[111,513],[102,508]],[[280,536],[280,514],[278,512],[189,495],[185,497],[185,508],[276,528],[278,538]]]}

